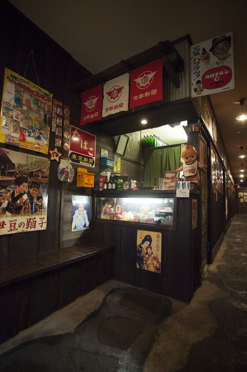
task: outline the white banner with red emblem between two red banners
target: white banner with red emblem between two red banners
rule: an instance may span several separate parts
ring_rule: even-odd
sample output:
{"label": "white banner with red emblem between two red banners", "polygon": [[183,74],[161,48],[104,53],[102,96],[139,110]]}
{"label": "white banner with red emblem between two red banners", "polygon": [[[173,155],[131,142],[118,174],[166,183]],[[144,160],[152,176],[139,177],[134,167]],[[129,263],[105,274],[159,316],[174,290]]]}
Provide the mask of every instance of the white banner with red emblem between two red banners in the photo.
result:
{"label": "white banner with red emblem between two red banners", "polygon": [[104,84],[102,117],[128,111],[129,74],[118,76]]}

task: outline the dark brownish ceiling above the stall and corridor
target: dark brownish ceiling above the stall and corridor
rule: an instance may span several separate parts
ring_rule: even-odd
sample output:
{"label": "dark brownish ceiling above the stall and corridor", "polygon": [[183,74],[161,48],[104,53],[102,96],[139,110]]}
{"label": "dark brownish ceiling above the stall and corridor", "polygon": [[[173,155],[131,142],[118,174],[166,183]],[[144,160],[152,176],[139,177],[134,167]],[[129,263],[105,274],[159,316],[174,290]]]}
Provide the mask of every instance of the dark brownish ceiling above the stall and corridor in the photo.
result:
{"label": "dark brownish ceiling above the stall and corridor", "polygon": [[[9,0],[93,74],[159,41],[191,36],[193,44],[233,32],[235,89],[210,95],[235,182],[240,181],[240,147],[247,154],[247,121],[237,122],[246,98],[246,0]],[[244,181],[243,186],[247,186]]]}

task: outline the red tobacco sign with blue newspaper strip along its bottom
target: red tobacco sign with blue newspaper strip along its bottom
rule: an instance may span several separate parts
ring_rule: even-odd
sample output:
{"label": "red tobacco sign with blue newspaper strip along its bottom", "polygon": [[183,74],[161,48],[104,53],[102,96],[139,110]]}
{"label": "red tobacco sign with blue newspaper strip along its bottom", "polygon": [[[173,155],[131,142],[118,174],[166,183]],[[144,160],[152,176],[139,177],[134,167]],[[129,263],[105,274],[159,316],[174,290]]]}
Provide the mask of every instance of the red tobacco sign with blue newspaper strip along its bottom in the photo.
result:
{"label": "red tobacco sign with blue newspaper strip along its bottom", "polygon": [[70,125],[69,160],[95,167],[96,136]]}

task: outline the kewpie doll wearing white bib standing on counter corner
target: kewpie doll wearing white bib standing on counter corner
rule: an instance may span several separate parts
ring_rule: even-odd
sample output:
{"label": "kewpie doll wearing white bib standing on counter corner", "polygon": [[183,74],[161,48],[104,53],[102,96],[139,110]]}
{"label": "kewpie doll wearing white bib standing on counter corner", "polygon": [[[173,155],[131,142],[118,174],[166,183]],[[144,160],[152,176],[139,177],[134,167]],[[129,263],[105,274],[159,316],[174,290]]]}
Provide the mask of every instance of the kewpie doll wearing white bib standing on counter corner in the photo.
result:
{"label": "kewpie doll wearing white bib standing on counter corner", "polygon": [[182,158],[185,163],[175,172],[184,172],[185,181],[197,182],[199,184],[199,173],[198,167],[200,169],[206,169],[207,165],[203,165],[197,160],[197,150],[192,145],[185,145],[182,150]]}

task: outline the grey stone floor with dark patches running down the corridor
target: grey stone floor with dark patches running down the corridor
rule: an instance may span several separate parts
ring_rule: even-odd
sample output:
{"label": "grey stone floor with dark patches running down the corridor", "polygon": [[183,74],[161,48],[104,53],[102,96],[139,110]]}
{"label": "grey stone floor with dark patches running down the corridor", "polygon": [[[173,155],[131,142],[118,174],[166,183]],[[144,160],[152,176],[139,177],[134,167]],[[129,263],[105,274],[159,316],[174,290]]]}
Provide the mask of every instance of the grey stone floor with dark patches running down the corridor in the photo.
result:
{"label": "grey stone floor with dark patches running down the corridor", "polygon": [[190,304],[110,280],[0,345],[0,372],[247,372],[247,214]]}

